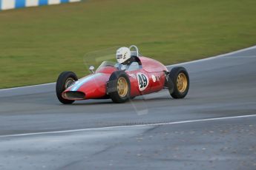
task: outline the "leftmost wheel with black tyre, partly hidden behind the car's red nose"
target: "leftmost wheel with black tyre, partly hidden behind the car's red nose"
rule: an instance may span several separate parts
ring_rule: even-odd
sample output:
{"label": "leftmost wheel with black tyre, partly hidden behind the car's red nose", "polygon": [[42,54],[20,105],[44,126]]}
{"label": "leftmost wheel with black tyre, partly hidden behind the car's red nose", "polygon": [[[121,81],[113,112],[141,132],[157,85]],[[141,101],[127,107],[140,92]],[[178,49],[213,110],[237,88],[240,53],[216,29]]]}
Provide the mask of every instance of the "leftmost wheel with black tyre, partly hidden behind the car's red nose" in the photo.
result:
{"label": "leftmost wheel with black tyre, partly hidden behind the car's red nose", "polygon": [[61,103],[70,104],[74,102],[74,101],[62,98],[62,92],[64,92],[65,89],[67,89],[69,86],[73,84],[74,81],[77,81],[77,80],[78,78],[76,74],[73,72],[62,72],[59,75],[59,78],[56,82],[56,95]]}

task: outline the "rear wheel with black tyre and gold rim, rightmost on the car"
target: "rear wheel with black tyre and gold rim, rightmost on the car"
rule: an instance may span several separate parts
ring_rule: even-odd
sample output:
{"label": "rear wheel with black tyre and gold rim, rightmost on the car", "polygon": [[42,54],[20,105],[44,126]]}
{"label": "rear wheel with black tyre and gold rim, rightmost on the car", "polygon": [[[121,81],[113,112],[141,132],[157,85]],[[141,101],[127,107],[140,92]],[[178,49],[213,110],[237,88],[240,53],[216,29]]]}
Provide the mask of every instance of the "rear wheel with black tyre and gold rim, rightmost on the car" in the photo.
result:
{"label": "rear wheel with black tyre and gold rim, rightmost on the car", "polygon": [[173,89],[169,89],[172,98],[185,98],[189,89],[189,76],[184,67],[174,67],[169,73],[169,77],[173,82]]}

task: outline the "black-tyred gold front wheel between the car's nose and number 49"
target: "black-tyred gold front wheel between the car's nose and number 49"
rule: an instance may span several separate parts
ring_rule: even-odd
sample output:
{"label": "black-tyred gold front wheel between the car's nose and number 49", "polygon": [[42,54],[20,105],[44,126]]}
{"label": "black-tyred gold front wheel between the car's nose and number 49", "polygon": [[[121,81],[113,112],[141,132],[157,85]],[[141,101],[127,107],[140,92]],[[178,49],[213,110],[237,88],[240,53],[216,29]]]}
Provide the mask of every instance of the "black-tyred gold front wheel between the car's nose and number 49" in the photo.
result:
{"label": "black-tyred gold front wheel between the car's nose and number 49", "polygon": [[111,74],[108,81],[108,95],[114,103],[124,103],[130,99],[131,83],[128,75],[123,71]]}

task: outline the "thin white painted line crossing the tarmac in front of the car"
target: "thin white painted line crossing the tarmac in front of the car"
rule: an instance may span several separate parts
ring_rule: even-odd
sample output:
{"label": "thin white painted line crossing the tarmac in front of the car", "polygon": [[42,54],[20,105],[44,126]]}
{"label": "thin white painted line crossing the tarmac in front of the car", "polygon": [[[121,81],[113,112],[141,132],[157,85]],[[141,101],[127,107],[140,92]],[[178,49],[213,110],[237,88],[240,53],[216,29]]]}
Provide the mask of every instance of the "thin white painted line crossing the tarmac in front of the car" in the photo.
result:
{"label": "thin white painted line crossing the tarmac in front of the car", "polygon": [[205,121],[214,121],[214,120],[228,120],[228,119],[252,118],[252,117],[256,117],[256,115],[241,115],[241,116],[231,116],[231,117],[222,117],[222,118],[182,120],[182,121],[167,122],[167,123],[148,123],[148,124],[139,124],[139,125],[107,126],[107,127],[99,127],[99,128],[73,129],[73,130],[53,131],[53,132],[34,132],[34,133],[14,134],[14,135],[0,135],[0,137],[25,137],[30,135],[63,134],[63,133],[69,133],[69,132],[86,132],[86,131],[94,131],[94,130],[108,130],[108,129],[143,127],[143,126],[163,126],[163,125],[172,125],[172,124],[181,124],[181,123],[196,123],[196,122],[205,122]]}

